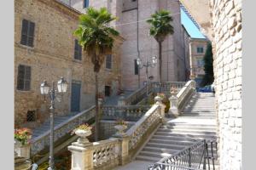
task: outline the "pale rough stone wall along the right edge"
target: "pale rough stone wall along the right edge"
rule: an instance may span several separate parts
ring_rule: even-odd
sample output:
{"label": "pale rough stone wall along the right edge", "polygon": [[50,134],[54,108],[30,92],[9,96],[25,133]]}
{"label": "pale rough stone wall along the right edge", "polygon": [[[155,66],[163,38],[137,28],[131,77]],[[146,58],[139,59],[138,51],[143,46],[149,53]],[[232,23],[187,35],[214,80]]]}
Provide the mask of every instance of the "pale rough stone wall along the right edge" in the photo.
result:
{"label": "pale rough stone wall along the right edge", "polygon": [[241,0],[210,0],[220,169],[241,169]]}

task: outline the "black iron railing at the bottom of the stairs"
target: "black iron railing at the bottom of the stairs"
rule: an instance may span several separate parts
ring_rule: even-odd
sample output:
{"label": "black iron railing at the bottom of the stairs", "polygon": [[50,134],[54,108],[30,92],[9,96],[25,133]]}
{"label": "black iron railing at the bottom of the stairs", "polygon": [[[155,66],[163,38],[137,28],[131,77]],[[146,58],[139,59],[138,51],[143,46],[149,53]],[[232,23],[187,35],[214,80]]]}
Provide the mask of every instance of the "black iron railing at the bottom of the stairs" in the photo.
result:
{"label": "black iron railing at the bottom of the stairs", "polygon": [[162,158],[148,170],[215,170],[217,158],[216,140],[204,139],[173,156]]}

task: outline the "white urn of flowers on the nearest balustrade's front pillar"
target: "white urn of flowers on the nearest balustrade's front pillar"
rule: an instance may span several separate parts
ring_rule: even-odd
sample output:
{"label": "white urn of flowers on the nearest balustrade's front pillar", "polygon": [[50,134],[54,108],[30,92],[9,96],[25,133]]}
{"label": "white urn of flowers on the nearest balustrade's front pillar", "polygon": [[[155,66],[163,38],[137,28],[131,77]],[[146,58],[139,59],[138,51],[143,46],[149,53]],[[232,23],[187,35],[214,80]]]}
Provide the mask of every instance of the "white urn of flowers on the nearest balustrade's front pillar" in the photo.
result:
{"label": "white urn of flowers on the nearest balustrade's front pillar", "polygon": [[91,134],[91,128],[87,123],[82,124],[79,127],[73,129],[72,134],[76,134],[79,136],[78,143],[79,144],[89,144],[90,141],[87,139]]}

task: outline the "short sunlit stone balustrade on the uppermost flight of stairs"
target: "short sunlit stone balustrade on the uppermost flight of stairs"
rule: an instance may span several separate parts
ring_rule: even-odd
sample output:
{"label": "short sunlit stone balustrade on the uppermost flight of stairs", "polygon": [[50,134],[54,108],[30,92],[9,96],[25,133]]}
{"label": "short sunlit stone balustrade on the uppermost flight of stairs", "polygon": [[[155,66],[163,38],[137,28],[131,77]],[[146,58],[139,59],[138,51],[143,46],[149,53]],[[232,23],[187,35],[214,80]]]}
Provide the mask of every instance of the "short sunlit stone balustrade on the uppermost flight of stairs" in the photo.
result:
{"label": "short sunlit stone balustrade on the uppermost flight of stairs", "polygon": [[183,110],[184,105],[186,102],[189,101],[192,94],[195,93],[195,81],[190,80],[185,84],[185,86],[178,92],[177,95],[172,95],[170,100],[170,109],[169,115],[170,116],[179,116],[180,112]]}

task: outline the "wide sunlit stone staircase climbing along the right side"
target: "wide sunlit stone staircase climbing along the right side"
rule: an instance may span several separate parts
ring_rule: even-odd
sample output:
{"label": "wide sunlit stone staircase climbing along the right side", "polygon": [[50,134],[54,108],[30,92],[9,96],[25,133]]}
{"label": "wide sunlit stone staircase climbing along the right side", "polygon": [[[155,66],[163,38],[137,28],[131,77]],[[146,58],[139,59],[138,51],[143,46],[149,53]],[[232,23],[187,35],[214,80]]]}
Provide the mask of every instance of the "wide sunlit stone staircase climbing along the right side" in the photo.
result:
{"label": "wide sunlit stone staircase climbing along the right side", "polygon": [[137,161],[160,161],[172,156],[200,139],[216,138],[214,96],[196,93],[182,115],[166,119],[136,156]]}

